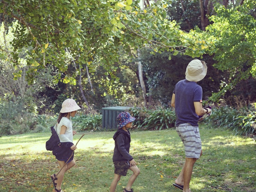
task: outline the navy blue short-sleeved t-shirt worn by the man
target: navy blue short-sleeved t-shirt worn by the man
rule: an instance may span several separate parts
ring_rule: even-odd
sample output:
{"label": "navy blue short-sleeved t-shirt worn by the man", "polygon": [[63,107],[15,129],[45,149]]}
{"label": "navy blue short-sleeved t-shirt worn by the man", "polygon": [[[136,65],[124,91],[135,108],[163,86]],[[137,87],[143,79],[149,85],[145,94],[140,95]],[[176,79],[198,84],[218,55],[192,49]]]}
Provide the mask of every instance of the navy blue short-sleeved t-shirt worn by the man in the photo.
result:
{"label": "navy blue short-sleeved t-shirt worn by the man", "polygon": [[199,117],[196,114],[194,102],[202,102],[202,87],[196,82],[184,79],[175,85],[173,93],[177,118],[175,125],[190,123],[192,126],[198,126]]}

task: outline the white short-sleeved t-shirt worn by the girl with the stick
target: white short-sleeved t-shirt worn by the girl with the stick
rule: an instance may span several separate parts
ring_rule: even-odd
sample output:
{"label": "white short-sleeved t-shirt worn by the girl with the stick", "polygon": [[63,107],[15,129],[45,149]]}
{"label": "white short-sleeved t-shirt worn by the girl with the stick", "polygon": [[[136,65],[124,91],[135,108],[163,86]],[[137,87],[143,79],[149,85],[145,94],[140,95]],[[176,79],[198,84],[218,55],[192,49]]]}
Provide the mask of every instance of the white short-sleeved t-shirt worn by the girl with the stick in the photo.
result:
{"label": "white short-sleeved t-shirt worn by the girl with the stick", "polygon": [[[56,126],[57,125],[57,126]],[[60,142],[72,142],[73,143],[73,128],[72,122],[67,117],[62,117],[60,123],[54,126],[55,131],[59,135]],[[60,135],[61,126],[64,125],[67,127],[65,134]]]}

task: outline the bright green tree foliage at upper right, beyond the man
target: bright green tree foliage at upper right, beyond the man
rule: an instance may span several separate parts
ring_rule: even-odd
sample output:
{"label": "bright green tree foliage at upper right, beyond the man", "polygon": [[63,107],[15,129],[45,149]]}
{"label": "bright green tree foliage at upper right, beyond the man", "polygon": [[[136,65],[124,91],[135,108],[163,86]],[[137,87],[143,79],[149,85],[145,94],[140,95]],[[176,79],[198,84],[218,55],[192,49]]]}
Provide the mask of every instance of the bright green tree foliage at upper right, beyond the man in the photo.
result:
{"label": "bright green tree foliage at upper right, beyond the man", "polygon": [[219,33],[221,38],[213,66],[229,73],[220,84],[220,92],[212,96],[216,101],[239,82],[256,77],[256,1],[244,1],[242,6],[230,9],[216,5],[215,11],[216,15],[210,17],[213,23],[206,28],[207,34]]}

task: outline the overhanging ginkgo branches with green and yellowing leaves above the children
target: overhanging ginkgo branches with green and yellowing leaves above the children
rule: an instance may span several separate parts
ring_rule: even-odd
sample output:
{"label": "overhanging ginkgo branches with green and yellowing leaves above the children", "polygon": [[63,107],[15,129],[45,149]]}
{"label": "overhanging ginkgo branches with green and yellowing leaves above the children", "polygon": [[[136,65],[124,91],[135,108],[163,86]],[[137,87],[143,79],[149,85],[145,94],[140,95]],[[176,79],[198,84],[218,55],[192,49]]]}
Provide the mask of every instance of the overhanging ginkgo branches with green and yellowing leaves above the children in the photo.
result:
{"label": "overhanging ginkgo branches with green and yellowing leaves above the children", "polygon": [[[118,62],[118,47],[126,50],[147,46],[156,52],[173,52],[191,57],[202,57],[215,49],[214,36],[202,39],[197,33],[180,30],[175,21],[166,19],[168,0],[158,1],[141,10],[139,0],[1,0],[5,32],[14,18],[20,24],[9,50],[4,40],[0,52],[6,53],[6,60],[19,65],[20,52],[24,47],[32,51],[26,55],[27,79],[31,83],[37,70],[53,65],[56,68],[55,82],[76,84],[76,76],[87,65],[93,72],[93,58],[100,58],[106,75],[112,82]],[[68,74],[67,50],[76,64],[76,72]],[[171,54],[169,59],[171,59]],[[15,74],[19,76],[18,72]]]}

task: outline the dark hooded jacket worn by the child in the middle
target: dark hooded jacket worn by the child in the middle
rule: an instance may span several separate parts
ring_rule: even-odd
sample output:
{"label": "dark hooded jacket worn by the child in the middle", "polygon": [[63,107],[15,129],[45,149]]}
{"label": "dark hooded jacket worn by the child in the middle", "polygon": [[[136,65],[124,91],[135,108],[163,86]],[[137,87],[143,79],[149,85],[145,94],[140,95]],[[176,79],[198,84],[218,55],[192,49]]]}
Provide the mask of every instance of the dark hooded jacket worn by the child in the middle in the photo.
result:
{"label": "dark hooded jacket worn by the child in the middle", "polygon": [[113,161],[131,161],[133,158],[129,154],[130,151],[130,143],[131,143],[131,136],[130,132],[127,130],[124,131],[123,129],[118,129],[113,139],[115,140],[115,149],[113,154]]}

